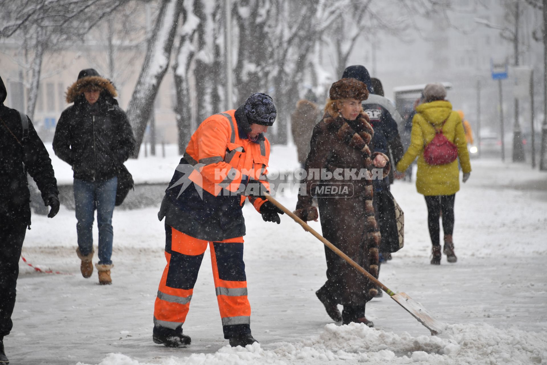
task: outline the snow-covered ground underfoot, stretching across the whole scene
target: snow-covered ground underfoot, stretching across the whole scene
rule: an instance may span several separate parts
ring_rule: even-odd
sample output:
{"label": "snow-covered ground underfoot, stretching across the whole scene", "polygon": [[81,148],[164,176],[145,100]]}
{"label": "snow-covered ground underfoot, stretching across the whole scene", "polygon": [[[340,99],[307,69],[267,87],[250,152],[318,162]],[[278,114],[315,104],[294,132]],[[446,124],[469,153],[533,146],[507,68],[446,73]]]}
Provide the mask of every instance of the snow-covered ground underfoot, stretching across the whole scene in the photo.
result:
{"label": "snow-covered ground underfoot, stretching across the whole scene", "polygon": [[[272,168],[297,167],[293,152],[275,146]],[[138,161],[130,170],[146,176]],[[251,328],[260,345],[226,346],[207,259],[184,325],[192,344],[156,345],[153,306],[165,266],[157,208],[114,212],[112,286],[97,285],[95,273],[80,275],[74,212],[62,208],[54,219],[33,216],[23,256],[69,275],[39,274],[21,261],[7,354],[13,364],[32,365],[547,363],[547,174],[493,160],[472,165],[456,196],[456,264],[429,264],[423,196],[414,183],[393,186],[405,212],[405,247],[382,266],[380,280],[446,322],[438,336],[386,294],[367,305],[375,328],[333,324],[315,296],[325,280],[321,242],[286,216],[280,225],[263,222],[247,205]],[[292,196],[280,200],[295,206]]]}

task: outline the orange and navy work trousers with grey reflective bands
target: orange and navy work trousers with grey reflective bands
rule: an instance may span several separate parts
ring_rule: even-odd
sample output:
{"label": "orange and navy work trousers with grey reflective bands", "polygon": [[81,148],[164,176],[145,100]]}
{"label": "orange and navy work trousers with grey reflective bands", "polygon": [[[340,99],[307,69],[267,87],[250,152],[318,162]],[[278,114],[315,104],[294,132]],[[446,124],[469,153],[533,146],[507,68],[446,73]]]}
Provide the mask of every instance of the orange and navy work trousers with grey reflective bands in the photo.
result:
{"label": "orange and navy work trousers with grey reflective bands", "polygon": [[210,246],[214,287],[224,338],[251,333],[251,305],[243,263],[243,237],[218,242],[196,239],[165,225],[165,258],[154,305],[154,326],[182,327],[194,292],[203,254]]}

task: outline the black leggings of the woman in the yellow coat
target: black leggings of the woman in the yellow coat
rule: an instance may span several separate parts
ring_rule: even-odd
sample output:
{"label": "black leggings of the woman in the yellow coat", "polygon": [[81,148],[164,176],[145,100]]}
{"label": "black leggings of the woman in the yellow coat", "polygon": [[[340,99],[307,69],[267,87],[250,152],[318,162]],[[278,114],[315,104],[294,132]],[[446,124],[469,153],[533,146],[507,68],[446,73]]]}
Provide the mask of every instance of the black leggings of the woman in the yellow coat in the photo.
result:
{"label": "black leggings of the woman in the yellow coat", "polygon": [[427,204],[427,225],[429,236],[433,246],[440,246],[439,235],[439,216],[443,211],[443,231],[445,235],[452,235],[454,231],[454,199],[456,194],[452,195],[432,195],[424,196]]}

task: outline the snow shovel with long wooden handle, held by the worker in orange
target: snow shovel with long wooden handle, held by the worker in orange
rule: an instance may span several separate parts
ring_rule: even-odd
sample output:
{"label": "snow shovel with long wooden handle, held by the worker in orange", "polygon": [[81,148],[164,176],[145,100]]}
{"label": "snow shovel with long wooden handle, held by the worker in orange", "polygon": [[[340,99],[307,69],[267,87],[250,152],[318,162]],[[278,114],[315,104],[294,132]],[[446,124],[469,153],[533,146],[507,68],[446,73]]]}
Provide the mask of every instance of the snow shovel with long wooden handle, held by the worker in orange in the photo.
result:
{"label": "snow shovel with long wooden handle, held by the worker in orange", "polygon": [[406,293],[393,293],[391,290],[388,289],[387,286],[383,285],[378,279],[376,279],[373,275],[371,275],[368,271],[363,269],[359,264],[354,262],[350,257],[348,257],[344,252],[340,251],[336,246],[331,244],[325,237],[317,233],[317,231],[313,228],[311,228],[306,222],[302,221],[299,217],[297,217],[293,212],[289,211],[286,207],[284,207],[280,202],[272,198],[270,194],[265,193],[266,198],[272,202],[276,207],[280,208],[283,212],[285,212],[289,217],[293,218],[294,221],[302,226],[306,231],[309,231],[312,235],[314,235],[319,241],[323,242],[325,246],[330,248],[330,250],[333,250],[338,256],[346,260],[346,262],[350,265],[352,265],[354,268],[356,268],[360,273],[365,275],[370,281],[375,283],[377,286],[382,288],[383,291],[385,291],[391,299],[395,300],[400,306],[402,306],[406,311],[408,311],[414,318],[418,320],[418,322],[422,323],[422,325],[426,326],[427,329],[431,332],[432,335],[437,335],[445,329],[446,325],[444,323],[441,323],[432,316],[428,314],[425,308],[418,303],[415,302],[412,298],[410,298]]}

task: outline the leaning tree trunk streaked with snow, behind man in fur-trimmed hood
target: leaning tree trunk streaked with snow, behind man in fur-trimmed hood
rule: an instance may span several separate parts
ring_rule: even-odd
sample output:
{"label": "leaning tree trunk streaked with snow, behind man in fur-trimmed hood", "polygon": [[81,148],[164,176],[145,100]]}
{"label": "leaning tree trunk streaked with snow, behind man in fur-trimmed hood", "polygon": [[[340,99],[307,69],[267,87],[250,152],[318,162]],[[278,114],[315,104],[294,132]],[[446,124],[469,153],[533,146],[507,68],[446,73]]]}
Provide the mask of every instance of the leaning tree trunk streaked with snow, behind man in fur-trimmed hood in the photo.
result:
{"label": "leaning tree trunk streaked with snow, behind man in fur-trimmed hood", "polygon": [[129,118],[136,140],[133,158],[138,156],[156,94],[158,94],[161,80],[169,66],[182,2],[183,0],[163,0],[161,2],[154,31],[148,41],[141,74],[135,85],[129,107],[127,107],[127,118]]}

